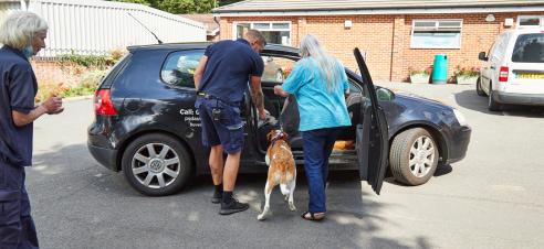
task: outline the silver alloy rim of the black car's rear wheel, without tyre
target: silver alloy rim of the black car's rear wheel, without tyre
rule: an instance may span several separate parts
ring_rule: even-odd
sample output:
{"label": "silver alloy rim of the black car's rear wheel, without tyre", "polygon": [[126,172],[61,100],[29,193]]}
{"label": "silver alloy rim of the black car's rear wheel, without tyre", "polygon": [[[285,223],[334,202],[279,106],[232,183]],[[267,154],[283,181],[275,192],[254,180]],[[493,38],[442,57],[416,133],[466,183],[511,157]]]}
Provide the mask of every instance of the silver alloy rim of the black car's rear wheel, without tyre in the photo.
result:
{"label": "silver alloy rim of the black car's rear wheel, without tyre", "polygon": [[134,177],[146,187],[161,188],[170,185],[179,175],[179,156],[163,143],[148,143],[134,154]]}

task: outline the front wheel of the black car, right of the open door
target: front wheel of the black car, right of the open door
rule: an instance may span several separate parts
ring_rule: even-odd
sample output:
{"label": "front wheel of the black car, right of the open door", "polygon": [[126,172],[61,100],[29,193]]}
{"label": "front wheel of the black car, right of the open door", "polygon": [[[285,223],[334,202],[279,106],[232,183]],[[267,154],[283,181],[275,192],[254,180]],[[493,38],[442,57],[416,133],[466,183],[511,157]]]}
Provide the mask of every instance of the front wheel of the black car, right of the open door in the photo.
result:
{"label": "front wheel of the black car, right of the open door", "polygon": [[397,134],[389,151],[389,164],[397,182],[417,186],[427,183],[438,165],[438,148],[432,136],[422,128]]}

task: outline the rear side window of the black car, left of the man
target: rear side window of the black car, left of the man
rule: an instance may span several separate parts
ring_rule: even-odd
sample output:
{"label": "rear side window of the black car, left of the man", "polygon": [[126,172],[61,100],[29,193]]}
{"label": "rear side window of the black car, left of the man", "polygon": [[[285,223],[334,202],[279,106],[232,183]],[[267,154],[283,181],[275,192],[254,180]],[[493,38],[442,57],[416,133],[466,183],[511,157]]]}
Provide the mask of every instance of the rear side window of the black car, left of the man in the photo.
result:
{"label": "rear side window of the black car, left of the man", "polygon": [[160,69],[160,78],[169,85],[195,88],[195,69],[203,51],[179,51],[171,53]]}

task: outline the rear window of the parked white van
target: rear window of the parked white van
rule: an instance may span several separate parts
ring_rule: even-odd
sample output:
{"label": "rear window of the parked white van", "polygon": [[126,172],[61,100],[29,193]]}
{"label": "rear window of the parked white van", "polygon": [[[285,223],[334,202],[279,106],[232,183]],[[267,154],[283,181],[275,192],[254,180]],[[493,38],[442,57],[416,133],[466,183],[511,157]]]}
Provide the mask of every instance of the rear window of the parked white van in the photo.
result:
{"label": "rear window of the parked white van", "polygon": [[544,63],[544,33],[517,36],[512,53],[512,62]]}

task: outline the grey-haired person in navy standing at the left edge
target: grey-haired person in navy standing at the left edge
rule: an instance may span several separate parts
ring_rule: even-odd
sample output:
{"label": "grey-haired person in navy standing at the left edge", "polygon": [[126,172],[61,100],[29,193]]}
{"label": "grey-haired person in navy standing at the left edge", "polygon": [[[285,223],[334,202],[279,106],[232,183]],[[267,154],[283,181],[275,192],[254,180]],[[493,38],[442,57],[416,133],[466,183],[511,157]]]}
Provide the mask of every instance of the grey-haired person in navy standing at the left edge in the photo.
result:
{"label": "grey-haired person in navy standing at the left edge", "polygon": [[32,165],[32,122],[63,111],[62,99],[34,104],[38,83],[30,57],[45,47],[48,23],[18,11],[0,26],[0,248],[39,248],[25,166]]}

